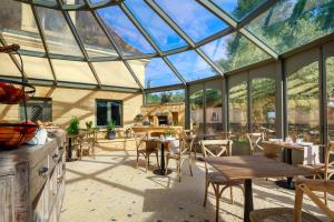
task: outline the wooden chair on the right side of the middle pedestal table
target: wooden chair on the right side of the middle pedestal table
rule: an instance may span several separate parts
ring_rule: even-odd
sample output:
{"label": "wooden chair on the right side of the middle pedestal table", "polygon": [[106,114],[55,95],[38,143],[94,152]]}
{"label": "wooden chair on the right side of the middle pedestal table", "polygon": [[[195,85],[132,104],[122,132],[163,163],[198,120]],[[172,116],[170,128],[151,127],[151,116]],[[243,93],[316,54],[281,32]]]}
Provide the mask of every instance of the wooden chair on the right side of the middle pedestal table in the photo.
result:
{"label": "wooden chair on the right side of the middle pedestal table", "polygon": [[[177,170],[177,176],[178,181],[180,182],[181,178],[181,167],[185,160],[189,163],[189,171],[190,175],[193,176],[193,169],[191,169],[191,151],[193,151],[193,144],[194,144],[195,137],[187,135],[185,133],[179,134],[179,145],[176,149],[169,149],[169,152],[167,153],[166,158],[166,169],[168,169],[168,163],[170,159],[174,159],[176,161],[176,170]],[[167,173],[167,170],[166,170]]]}

